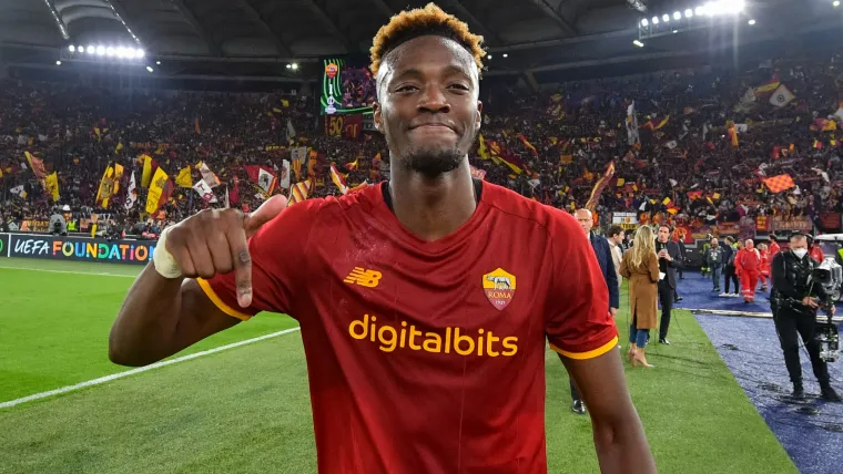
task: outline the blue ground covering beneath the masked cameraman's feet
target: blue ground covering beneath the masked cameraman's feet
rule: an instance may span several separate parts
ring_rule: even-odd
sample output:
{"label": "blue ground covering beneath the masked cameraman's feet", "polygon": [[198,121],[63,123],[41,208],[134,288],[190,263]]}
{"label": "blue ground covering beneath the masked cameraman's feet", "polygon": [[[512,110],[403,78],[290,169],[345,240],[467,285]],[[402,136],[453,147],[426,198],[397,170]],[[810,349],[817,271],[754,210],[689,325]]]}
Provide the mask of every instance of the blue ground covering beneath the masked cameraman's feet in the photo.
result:
{"label": "blue ground covering beneath the masked cameraman's feet", "polygon": [[[803,474],[843,472],[843,404],[816,398],[820,387],[803,349],[806,402],[793,403],[773,321],[761,318],[697,316],[720,357]],[[829,365],[832,384],[843,388],[843,364]],[[815,410],[814,414],[801,410]]]}

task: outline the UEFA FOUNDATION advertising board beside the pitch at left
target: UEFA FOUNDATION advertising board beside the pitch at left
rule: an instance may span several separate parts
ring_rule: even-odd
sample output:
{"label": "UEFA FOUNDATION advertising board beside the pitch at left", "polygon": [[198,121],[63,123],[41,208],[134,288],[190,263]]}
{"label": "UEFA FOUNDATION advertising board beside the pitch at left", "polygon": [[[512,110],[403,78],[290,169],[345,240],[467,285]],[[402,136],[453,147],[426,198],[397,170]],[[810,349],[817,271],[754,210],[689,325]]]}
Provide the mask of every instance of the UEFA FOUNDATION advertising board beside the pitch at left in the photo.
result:
{"label": "UEFA FOUNDATION advertising board beside the pitch at left", "polygon": [[99,261],[146,265],[155,251],[155,240],[106,240],[84,237],[53,237],[2,234],[6,255],[48,260]]}

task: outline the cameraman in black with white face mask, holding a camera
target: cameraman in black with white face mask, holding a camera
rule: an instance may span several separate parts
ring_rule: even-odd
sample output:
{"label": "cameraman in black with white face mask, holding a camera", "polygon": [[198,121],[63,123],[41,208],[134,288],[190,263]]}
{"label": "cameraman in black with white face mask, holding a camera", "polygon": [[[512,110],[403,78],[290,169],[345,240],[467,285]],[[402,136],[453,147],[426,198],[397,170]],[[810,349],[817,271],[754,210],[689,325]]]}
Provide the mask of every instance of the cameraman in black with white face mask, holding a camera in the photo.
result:
{"label": "cameraman in black with white face mask, holding a camera", "polygon": [[[817,300],[825,298],[825,289],[819,282],[811,285],[811,274],[819,264],[808,255],[808,238],[804,234],[790,237],[790,251],[780,251],[772,262],[773,291],[770,306],[773,310],[775,330],[784,351],[793,396],[803,398],[802,365],[799,360],[799,336],[805,343],[814,375],[820,382],[821,395],[831,402],[841,402],[840,395],[831,387],[829,367],[820,359],[820,347],[814,340]],[[834,312],[834,306],[830,308]],[[799,334],[799,336],[798,336]]]}

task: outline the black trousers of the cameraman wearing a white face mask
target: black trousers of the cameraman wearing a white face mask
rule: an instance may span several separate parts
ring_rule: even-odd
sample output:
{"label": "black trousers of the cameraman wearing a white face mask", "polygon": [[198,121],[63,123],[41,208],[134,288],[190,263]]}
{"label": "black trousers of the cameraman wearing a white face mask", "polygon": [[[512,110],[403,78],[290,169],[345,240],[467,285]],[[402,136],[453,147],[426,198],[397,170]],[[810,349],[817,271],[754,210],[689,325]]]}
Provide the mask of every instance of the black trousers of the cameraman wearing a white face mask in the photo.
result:
{"label": "black trousers of the cameraman wearing a white face mask", "polygon": [[816,318],[795,312],[790,309],[773,311],[775,330],[784,352],[784,364],[788,367],[791,382],[802,383],[802,364],[799,361],[799,338],[805,343],[808,356],[811,358],[811,368],[814,377],[822,383],[829,383],[829,364],[820,359],[820,346],[814,340]]}

